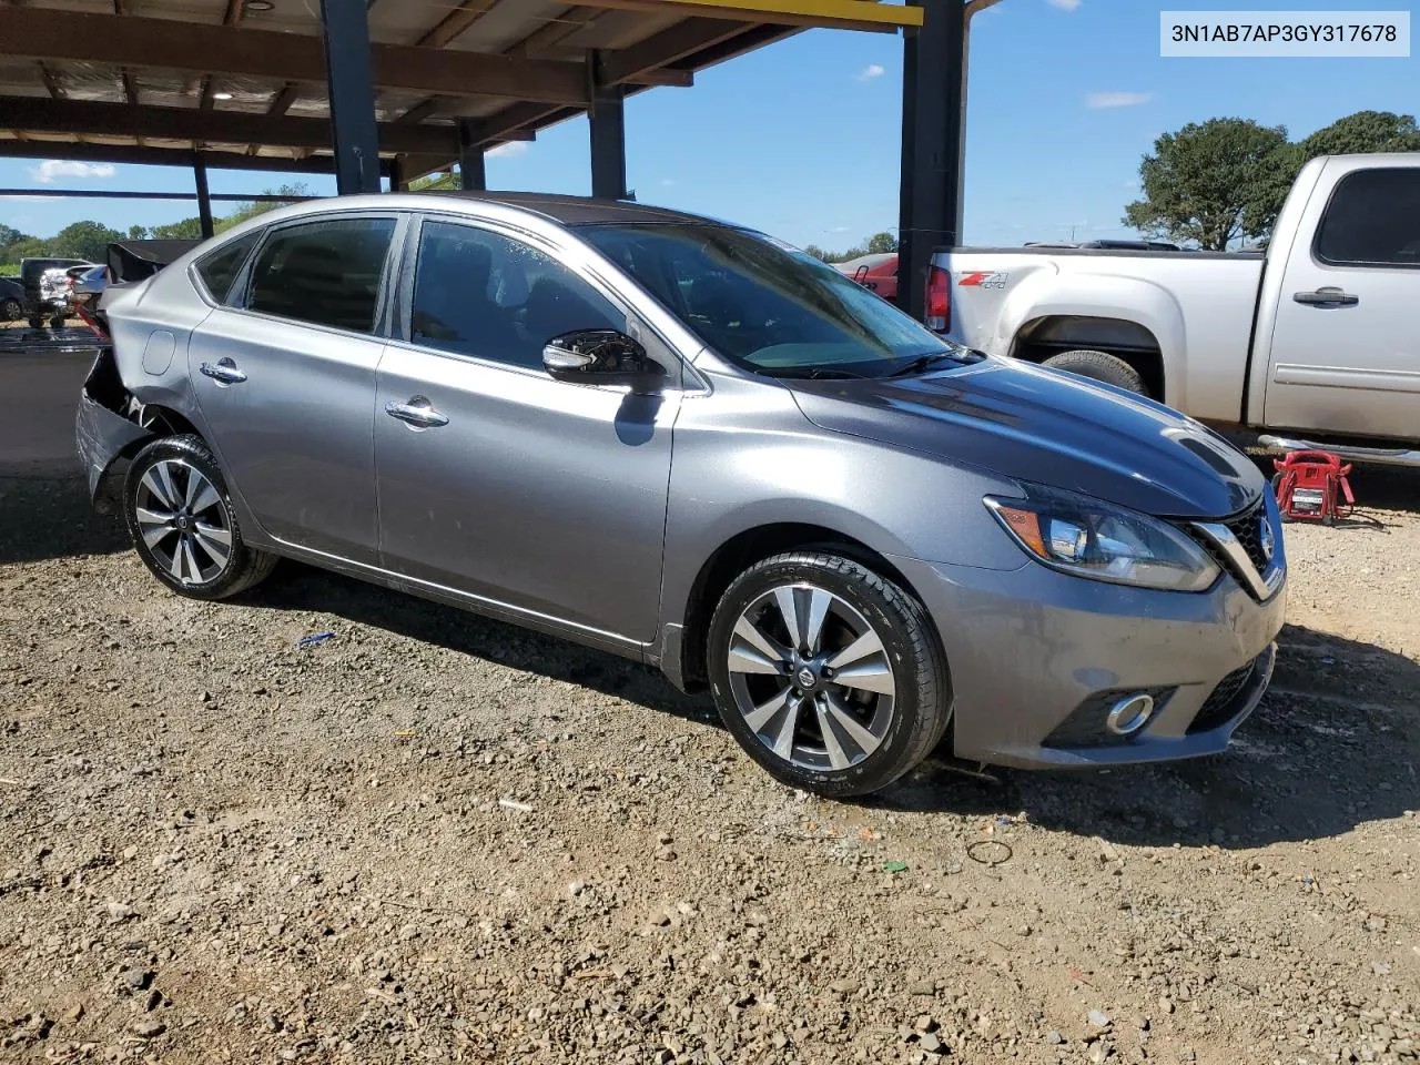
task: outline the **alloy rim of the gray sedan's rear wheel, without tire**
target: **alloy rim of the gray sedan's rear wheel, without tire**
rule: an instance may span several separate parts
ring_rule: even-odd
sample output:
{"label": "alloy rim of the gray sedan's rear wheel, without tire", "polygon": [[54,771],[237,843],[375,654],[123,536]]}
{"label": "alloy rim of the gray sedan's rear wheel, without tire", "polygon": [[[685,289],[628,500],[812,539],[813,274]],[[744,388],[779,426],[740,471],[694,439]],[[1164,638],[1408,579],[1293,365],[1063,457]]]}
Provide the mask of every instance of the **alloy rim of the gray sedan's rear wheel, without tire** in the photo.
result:
{"label": "alloy rim of the gray sedan's rear wheel, without tire", "polygon": [[133,515],[143,544],[180,584],[207,584],[231,558],[231,524],[222,496],[185,462],[163,459],[143,473]]}

